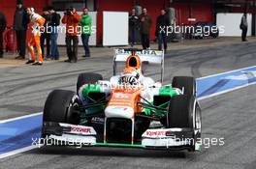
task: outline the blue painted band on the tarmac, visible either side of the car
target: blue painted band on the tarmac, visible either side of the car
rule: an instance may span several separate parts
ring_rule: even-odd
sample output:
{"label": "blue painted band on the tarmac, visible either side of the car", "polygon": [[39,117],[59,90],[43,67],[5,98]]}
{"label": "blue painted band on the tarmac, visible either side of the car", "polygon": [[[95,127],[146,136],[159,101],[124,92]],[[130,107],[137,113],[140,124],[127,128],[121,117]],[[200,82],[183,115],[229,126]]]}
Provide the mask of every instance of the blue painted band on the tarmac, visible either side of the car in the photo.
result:
{"label": "blue painted band on the tarmac, visible either side of the car", "polygon": [[[204,99],[251,84],[256,84],[256,66],[197,79],[197,97]],[[0,155],[31,146],[32,138],[40,137],[41,127],[42,114],[0,121]]]}

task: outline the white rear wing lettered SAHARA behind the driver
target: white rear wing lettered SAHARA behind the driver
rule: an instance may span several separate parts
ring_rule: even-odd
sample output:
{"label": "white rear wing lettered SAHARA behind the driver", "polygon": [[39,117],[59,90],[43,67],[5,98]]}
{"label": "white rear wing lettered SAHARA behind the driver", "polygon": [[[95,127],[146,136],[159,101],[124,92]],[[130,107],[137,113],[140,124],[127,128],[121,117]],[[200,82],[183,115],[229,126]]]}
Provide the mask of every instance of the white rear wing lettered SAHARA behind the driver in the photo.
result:
{"label": "white rear wing lettered SAHARA behind the driver", "polygon": [[126,62],[131,55],[140,57],[142,63],[155,64],[161,66],[161,82],[164,77],[164,50],[143,50],[137,48],[118,48],[114,49],[113,56],[113,75],[116,74],[116,62]]}

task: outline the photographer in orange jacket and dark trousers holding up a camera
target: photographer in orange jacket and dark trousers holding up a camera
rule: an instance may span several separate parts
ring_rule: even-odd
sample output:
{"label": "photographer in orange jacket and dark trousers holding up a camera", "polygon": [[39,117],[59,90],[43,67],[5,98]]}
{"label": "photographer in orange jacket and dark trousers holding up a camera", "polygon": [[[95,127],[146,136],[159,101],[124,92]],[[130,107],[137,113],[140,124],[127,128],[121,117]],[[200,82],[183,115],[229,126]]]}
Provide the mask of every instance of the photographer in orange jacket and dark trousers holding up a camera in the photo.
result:
{"label": "photographer in orange jacket and dark trousers holding up a camera", "polygon": [[[80,22],[80,14],[77,13],[76,9],[71,7],[66,10],[62,23],[66,24],[66,45],[68,60],[65,62],[76,63],[78,61],[78,26]],[[72,45],[73,44],[73,45]]]}

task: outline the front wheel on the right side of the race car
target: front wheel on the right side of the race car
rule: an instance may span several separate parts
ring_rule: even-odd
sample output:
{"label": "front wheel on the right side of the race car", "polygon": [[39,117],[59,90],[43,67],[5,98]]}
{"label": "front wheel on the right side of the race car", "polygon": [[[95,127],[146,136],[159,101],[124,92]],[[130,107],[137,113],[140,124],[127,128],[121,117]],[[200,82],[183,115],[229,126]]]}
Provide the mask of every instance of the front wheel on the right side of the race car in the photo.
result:
{"label": "front wheel on the right side of the race car", "polygon": [[179,95],[171,99],[167,116],[167,127],[190,128],[193,134],[191,151],[195,151],[195,143],[201,137],[201,109],[195,97]]}

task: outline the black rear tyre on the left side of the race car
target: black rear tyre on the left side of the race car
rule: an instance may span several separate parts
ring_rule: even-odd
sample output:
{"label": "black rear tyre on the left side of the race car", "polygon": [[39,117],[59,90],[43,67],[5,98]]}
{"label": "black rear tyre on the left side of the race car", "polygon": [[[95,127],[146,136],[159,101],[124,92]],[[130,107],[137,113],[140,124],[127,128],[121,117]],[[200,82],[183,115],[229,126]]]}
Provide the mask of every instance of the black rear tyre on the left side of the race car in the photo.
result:
{"label": "black rear tyre on the left side of the race car", "polygon": [[85,72],[85,73],[80,73],[78,77],[78,82],[77,82],[77,93],[80,91],[80,87],[84,84],[94,84],[98,80],[102,80],[103,77],[101,74],[94,73],[94,72]]}

